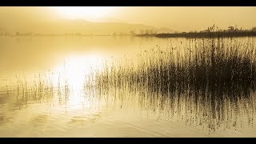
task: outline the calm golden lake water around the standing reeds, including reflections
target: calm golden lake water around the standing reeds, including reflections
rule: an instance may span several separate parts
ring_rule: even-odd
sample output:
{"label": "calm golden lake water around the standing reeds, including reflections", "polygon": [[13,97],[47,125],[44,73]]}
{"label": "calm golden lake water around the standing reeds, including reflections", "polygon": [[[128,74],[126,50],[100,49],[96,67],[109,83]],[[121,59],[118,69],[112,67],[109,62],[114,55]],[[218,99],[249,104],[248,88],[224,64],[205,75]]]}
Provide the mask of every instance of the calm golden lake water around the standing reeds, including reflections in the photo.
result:
{"label": "calm golden lake water around the standing reeds, including reflections", "polygon": [[94,85],[102,62],[188,41],[0,38],[0,137],[255,137],[254,86],[170,97],[143,86]]}

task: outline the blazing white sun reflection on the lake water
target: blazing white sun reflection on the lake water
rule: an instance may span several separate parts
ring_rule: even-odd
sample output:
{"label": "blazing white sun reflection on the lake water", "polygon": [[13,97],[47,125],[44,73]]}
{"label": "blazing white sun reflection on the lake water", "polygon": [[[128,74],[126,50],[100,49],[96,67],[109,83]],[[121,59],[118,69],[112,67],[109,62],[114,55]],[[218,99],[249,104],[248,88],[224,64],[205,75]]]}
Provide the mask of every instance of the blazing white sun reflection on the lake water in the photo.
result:
{"label": "blazing white sun reflection on the lake water", "polygon": [[64,86],[70,90],[66,106],[72,109],[90,106],[90,101],[82,90],[86,78],[93,77],[94,70],[101,70],[101,60],[102,57],[95,54],[71,56],[54,68],[54,86]]}

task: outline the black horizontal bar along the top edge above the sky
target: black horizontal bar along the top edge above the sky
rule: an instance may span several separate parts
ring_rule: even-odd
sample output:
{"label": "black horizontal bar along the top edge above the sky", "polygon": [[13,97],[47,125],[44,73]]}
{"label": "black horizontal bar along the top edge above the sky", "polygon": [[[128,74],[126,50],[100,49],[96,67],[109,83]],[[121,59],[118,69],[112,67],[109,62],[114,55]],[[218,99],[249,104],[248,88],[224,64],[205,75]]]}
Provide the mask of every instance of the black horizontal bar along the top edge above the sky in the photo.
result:
{"label": "black horizontal bar along the top edge above the sky", "polygon": [[256,6],[254,0],[2,0],[0,6]]}

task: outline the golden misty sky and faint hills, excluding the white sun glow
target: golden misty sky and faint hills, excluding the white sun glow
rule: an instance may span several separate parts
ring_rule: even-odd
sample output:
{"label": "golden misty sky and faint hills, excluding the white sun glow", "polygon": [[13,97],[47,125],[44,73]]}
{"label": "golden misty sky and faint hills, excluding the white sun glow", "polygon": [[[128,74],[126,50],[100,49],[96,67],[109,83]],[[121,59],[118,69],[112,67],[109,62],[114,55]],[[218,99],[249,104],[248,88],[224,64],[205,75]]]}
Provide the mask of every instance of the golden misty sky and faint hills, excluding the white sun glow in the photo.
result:
{"label": "golden misty sky and faint hills, excluding the white sun glow", "polygon": [[215,24],[221,29],[255,26],[255,7],[110,7],[101,18],[68,17],[56,7],[0,7],[1,33],[42,34],[139,34],[142,30],[156,33],[205,30]]}

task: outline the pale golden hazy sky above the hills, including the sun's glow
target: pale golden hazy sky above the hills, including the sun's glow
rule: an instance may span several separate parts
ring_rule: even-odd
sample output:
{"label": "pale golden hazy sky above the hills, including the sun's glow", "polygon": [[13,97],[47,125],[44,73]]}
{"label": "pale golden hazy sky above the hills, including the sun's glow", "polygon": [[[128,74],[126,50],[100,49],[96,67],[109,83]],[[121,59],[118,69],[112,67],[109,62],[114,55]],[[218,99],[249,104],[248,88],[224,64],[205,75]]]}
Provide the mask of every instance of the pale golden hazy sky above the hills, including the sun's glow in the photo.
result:
{"label": "pale golden hazy sky above the hills, including the sun's glow", "polygon": [[226,28],[256,26],[256,7],[0,7],[2,22],[44,19],[86,19],[89,21],[128,22],[168,27],[172,30],[202,30],[213,24]]}

